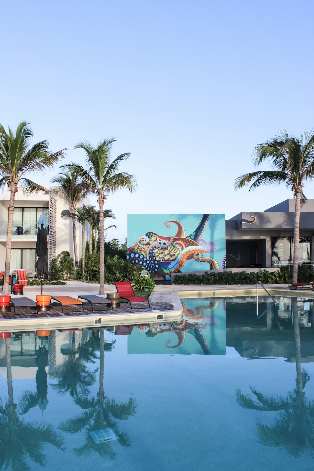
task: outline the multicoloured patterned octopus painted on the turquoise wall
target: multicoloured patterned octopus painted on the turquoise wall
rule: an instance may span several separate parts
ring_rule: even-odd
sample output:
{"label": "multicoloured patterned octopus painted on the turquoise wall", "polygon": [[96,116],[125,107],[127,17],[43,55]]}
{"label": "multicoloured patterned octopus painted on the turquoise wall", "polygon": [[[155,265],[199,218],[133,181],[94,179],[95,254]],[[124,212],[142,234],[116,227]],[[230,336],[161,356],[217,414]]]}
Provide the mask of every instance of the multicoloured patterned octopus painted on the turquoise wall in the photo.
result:
{"label": "multicoloured patterned octopus painted on the turquoise wall", "polygon": [[167,220],[164,223],[165,227],[169,230],[170,224],[176,224],[176,234],[167,236],[147,232],[137,243],[128,247],[128,260],[134,265],[142,266],[153,275],[157,272],[162,275],[176,273],[182,269],[187,260],[206,262],[209,264],[209,269],[219,268],[217,261],[209,257],[209,253],[216,250],[216,244],[203,238],[209,218],[210,214],[203,214],[201,221],[189,235],[185,235],[185,229],[179,221]]}

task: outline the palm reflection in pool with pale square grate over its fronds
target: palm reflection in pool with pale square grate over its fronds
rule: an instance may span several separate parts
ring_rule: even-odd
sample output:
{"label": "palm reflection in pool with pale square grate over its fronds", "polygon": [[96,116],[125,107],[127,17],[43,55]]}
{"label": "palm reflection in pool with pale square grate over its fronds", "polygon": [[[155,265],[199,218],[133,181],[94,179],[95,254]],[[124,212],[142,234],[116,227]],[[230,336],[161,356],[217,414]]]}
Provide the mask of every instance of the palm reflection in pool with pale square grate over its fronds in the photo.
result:
{"label": "palm reflection in pool with pale square grate over its fronds", "polygon": [[122,446],[130,446],[128,435],[119,430],[118,422],[115,419],[127,420],[130,415],[134,415],[137,407],[136,401],[132,397],[125,403],[108,399],[104,391],[105,349],[109,350],[112,348],[112,343],[108,344],[105,342],[104,329],[100,329],[99,390],[97,397],[76,398],[76,404],[84,409],[84,412],[60,425],[61,430],[72,434],[85,430],[84,445],[80,448],[74,448],[75,453],[80,456],[88,455],[90,452],[95,451],[102,457],[114,458],[115,453],[109,442],[96,444],[90,435],[90,432],[93,430],[102,430],[107,427],[114,430]]}

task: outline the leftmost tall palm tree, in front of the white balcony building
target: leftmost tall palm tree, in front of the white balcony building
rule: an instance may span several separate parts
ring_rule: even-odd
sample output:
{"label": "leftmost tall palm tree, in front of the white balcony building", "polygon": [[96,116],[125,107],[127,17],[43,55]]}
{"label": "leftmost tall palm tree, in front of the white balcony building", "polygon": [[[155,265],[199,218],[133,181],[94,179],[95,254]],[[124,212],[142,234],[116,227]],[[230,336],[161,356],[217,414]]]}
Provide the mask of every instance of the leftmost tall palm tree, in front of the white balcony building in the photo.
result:
{"label": "leftmost tall palm tree, in front of the white balcony building", "polygon": [[39,173],[51,168],[64,157],[64,150],[50,153],[48,141],[41,141],[30,146],[33,133],[27,122],[22,121],[16,128],[16,133],[8,128],[8,133],[0,124],[0,189],[7,187],[10,190],[10,203],[8,209],[8,230],[5,275],[3,281],[3,294],[9,294],[9,274],[11,258],[12,221],[15,195],[19,185],[23,186],[25,194],[43,191],[32,180],[26,178],[28,172]]}

